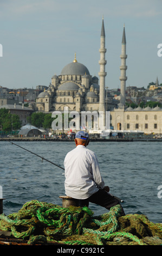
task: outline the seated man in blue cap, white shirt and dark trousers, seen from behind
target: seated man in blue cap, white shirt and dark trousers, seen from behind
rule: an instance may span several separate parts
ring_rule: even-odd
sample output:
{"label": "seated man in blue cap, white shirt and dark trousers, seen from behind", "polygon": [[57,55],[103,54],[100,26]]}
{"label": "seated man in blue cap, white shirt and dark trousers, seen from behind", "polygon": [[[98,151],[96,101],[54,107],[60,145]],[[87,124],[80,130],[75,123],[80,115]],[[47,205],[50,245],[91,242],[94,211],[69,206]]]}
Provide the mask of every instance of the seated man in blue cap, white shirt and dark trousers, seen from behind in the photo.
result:
{"label": "seated man in blue cap, white shirt and dark trousers, seen from behind", "polygon": [[[84,206],[94,203],[110,209],[120,204],[116,197],[109,194],[109,187],[100,174],[99,163],[93,151],[87,149],[89,136],[85,131],[79,131],[75,136],[76,148],[70,151],[64,159],[65,192],[66,195],[79,200]],[[122,215],[125,212],[121,206]]]}

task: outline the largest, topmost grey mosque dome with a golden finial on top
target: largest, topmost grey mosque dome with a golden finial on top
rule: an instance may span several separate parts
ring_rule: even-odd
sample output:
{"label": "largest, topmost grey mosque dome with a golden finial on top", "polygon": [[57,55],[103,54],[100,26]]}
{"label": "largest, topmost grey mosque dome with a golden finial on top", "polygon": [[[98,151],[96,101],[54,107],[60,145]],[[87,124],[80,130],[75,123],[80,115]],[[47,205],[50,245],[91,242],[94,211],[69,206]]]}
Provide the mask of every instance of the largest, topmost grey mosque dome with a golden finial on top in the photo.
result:
{"label": "largest, topmost grey mosque dome with a golden finial on top", "polygon": [[85,65],[77,62],[76,55],[75,55],[74,61],[64,66],[64,68],[61,71],[61,76],[62,75],[85,75],[85,74],[90,75],[89,70],[86,68]]}

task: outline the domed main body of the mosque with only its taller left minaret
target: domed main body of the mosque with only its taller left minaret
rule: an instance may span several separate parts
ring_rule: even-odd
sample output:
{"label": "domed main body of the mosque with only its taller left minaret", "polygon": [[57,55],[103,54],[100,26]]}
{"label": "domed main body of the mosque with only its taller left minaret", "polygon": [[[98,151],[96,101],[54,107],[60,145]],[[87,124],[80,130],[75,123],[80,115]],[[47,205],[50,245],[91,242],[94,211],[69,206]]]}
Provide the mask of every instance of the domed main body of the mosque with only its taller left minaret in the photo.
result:
{"label": "domed main body of the mosque with only its taller left minaret", "polygon": [[[37,111],[45,113],[63,111],[105,111],[112,110],[119,101],[105,94],[105,28],[102,20],[99,78],[92,76],[87,67],[77,62],[76,54],[72,63],[67,64],[59,76],[51,78],[50,86],[36,99]],[[106,102],[105,102],[106,101]]]}

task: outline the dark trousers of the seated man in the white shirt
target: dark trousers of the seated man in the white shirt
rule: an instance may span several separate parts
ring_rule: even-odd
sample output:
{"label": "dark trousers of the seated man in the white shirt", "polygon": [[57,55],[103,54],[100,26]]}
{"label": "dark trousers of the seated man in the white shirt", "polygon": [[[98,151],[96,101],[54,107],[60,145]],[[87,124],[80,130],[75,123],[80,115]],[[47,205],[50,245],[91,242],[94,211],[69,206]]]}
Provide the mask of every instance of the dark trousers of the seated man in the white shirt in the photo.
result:
{"label": "dark trousers of the seated man in the white shirt", "polygon": [[[90,196],[87,199],[80,199],[80,206],[85,206],[85,205],[88,206],[89,202],[105,207],[107,210],[110,210],[112,206],[120,204],[118,199],[116,199],[114,196],[112,196],[105,190],[99,190],[98,192],[94,193],[92,196]],[[121,209],[122,209],[121,215],[124,216],[125,212],[122,206],[121,206]]]}

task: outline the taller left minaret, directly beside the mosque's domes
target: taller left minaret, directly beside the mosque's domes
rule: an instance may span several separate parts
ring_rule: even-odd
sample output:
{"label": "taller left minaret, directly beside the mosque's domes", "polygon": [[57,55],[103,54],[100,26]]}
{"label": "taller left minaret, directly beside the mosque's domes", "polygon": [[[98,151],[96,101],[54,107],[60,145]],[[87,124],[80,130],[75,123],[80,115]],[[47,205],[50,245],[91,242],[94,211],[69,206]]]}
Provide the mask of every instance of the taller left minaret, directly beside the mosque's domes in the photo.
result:
{"label": "taller left minaret, directly beside the mosque's domes", "polygon": [[[105,60],[105,53],[106,53],[106,48],[105,48],[105,28],[104,28],[104,23],[103,23],[103,18],[102,18],[102,28],[101,28],[101,39],[100,39],[100,103],[99,103],[99,111],[103,111],[103,114],[105,116],[105,77],[106,77],[106,72],[105,72],[105,65],[106,65],[106,60]],[[104,120],[105,123],[105,120]]]}

